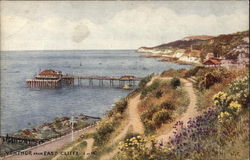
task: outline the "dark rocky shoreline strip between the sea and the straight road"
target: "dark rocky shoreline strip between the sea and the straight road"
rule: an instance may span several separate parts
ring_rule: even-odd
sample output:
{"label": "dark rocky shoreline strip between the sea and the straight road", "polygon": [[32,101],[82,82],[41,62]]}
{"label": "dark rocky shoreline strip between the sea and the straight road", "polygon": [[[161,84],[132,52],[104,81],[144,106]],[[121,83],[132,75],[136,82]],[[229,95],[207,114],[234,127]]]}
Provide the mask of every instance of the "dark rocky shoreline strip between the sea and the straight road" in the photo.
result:
{"label": "dark rocky shoreline strip between the sea and the straight road", "polygon": [[[92,126],[100,119],[100,117],[87,116],[84,114],[74,116],[73,132],[78,132],[86,127]],[[52,122],[44,122],[30,129],[20,129],[14,133],[7,133],[5,136],[1,136],[0,155],[2,156],[6,152],[22,151],[68,135],[72,132],[71,120],[71,118],[66,116],[55,117]],[[17,141],[13,138],[19,140]]]}

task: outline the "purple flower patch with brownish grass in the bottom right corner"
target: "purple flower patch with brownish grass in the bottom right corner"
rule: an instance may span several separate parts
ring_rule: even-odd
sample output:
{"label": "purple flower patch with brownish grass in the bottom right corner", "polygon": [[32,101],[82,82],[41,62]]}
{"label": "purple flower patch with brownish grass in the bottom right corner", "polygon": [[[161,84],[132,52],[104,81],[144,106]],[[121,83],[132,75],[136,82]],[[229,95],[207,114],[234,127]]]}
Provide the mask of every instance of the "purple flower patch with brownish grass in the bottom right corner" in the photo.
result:
{"label": "purple flower patch with brownish grass in the bottom right corner", "polygon": [[[221,112],[224,113],[224,112]],[[182,122],[175,125],[176,132],[168,143],[172,150],[168,153],[171,159],[220,159],[218,157],[229,156],[230,159],[245,157],[248,155],[247,148],[234,148],[236,141],[242,139],[243,146],[247,144],[244,140],[248,137],[248,125],[244,119],[220,123],[218,109],[209,109],[203,115],[191,119],[187,127]],[[229,116],[225,112],[224,116]],[[240,150],[246,150],[240,155]],[[236,154],[235,154],[236,153]],[[223,158],[222,158],[223,159]]]}

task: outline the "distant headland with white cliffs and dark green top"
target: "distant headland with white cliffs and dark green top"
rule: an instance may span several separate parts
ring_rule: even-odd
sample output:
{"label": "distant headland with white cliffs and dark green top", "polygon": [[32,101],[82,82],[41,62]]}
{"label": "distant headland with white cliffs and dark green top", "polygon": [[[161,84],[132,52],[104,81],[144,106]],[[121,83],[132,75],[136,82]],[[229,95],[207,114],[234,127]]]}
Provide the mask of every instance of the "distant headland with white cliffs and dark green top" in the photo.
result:
{"label": "distant headland with white cliffs and dark green top", "polygon": [[[207,53],[214,53],[215,57],[222,58],[237,57],[237,54],[235,54],[236,52],[232,51],[242,45],[249,47],[249,31],[223,34],[219,36],[188,36],[181,40],[161,44],[155,47],[140,47],[138,52],[147,52],[158,56],[173,56],[175,58],[178,57],[184,59],[185,61],[195,57],[196,62],[201,62],[206,57]],[[194,51],[195,56],[193,54]]]}

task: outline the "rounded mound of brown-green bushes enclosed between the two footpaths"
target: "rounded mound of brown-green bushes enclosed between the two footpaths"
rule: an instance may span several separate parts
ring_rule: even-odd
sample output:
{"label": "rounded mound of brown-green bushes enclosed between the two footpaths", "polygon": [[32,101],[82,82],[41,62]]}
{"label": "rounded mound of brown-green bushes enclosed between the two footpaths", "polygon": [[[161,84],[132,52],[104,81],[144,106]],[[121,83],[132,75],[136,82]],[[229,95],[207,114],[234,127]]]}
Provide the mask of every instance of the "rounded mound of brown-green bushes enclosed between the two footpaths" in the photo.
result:
{"label": "rounded mound of brown-green bushes enclosed between the two footpaths", "polygon": [[176,115],[185,111],[189,104],[188,95],[180,85],[179,78],[170,81],[156,79],[142,89],[139,108],[146,134],[154,133],[162,124],[171,122]]}

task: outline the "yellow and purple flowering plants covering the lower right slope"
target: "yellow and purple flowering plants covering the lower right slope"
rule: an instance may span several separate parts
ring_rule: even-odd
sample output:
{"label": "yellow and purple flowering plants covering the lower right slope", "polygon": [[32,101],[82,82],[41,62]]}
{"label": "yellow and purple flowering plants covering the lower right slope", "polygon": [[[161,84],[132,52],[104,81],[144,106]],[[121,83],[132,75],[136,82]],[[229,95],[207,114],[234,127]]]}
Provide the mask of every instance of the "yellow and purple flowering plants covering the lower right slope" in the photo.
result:
{"label": "yellow and purple flowering plants covering the lower right slope", "polygon": [[[249,158],[249,76],[225,79],[228,82],[209,97],[211,108],[190,119],[187,126],[178,121],[167,146],[156,145],[150,137],[133,137],[121,142],[115,160],[248,159]],[[230,80],[230,82],[229,82]],[[218,84],[215,84],[218,85]],[[215,90],[213,87],[204,90]],[[163,103],[166,108],[172,108]],[[159,106],[158,106],[159,107]],[[160,108],[160,107],[159,107]],[[150,108],[144,117],[152,117]],[[204,109],[203,109],[204,110]]]}

